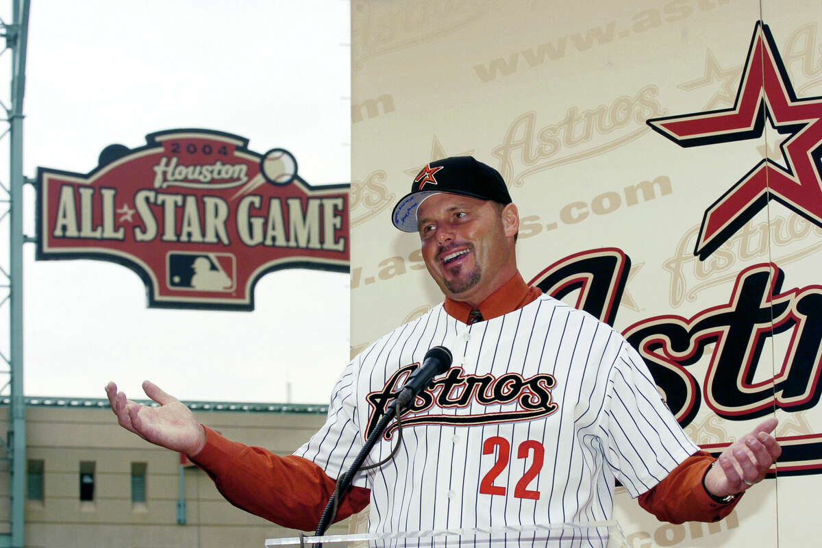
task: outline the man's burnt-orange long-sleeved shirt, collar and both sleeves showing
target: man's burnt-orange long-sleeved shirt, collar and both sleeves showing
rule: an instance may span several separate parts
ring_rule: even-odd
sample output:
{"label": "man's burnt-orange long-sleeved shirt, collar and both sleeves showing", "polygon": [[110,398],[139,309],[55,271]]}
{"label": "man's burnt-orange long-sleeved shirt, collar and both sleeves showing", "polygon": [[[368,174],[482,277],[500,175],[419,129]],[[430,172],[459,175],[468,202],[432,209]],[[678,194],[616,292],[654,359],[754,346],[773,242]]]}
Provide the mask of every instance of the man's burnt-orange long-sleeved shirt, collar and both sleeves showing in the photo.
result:
{"label": "man's burnt-orange long-sleeved shirt, collar and both sleeves showing", "polygon": [[[485,320],[533,302],[540,295],[517,274],[480,304]],[[467,323],[470,306],[446,299],[446,312]],[[326,472],[302,457],[279,457],[266,449],[248,447],[205,428],[206,443],[193,463],[215,481],[217,489],[235,506],[284,527],[313,531],[336,486]],[[703,478],[713,457],[699,451],[674,468],[663,481],[639,496],[640,506],[661,521],[714,522],[727,516],[740,497],[718,503],[704,488]],[[336,520],[367,506],[371,491],[353,486],[339,504]]]}

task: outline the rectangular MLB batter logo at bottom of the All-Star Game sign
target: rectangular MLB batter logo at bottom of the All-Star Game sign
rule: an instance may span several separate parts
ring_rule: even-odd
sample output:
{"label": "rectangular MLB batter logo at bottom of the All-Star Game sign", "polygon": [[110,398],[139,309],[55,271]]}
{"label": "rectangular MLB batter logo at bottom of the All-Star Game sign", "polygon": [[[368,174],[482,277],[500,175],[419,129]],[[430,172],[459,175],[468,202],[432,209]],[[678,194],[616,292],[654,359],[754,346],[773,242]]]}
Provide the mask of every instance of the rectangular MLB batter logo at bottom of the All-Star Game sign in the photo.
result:
{"label": "rectangular MLB batter logo at bottom of the All-Star Game sign", "polygon": [[166,256],[166,284],[182,291],[232,292],[237,260],[230,253],[173,251]]}

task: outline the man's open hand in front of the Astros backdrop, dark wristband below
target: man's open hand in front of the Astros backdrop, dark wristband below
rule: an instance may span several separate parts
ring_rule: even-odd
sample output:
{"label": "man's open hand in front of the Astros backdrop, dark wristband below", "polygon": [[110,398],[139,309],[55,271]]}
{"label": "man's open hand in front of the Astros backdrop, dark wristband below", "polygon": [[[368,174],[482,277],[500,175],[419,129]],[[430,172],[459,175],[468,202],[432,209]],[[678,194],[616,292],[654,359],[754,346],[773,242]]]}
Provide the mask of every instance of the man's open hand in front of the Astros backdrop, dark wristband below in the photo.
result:
{"label": "man's open hand in front of the Astros backdrop, dark wristband below", "polygon": [[723,497],[741,493],[762,481],[782,454],[782,448],[770,435],[777,424],[775,418],[769,418],[725,449],[705,476],[705,488]]}

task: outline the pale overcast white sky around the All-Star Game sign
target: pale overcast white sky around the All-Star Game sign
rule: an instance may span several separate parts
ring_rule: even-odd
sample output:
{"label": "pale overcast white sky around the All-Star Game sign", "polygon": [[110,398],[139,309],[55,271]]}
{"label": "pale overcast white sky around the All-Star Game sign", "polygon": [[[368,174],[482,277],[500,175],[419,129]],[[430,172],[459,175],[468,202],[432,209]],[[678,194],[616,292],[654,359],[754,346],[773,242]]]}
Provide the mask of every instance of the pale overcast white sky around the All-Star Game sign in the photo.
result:
{"label": "pale overcast white sky around the All-Star Game sign", "polygon": [[[201,127],[289,150],[312,185],[349,182],[349,68],[347,0],[32,0],[24,175]],[[31,187],[23,207],[33,236]],[[173,311],[121,265],[34,256],[25,244],[27,396],[101,398],[114,380],[145,398],[150,379],[181,399],[327,403],[349,359],[348,274],[279,270],[253,312]]]}

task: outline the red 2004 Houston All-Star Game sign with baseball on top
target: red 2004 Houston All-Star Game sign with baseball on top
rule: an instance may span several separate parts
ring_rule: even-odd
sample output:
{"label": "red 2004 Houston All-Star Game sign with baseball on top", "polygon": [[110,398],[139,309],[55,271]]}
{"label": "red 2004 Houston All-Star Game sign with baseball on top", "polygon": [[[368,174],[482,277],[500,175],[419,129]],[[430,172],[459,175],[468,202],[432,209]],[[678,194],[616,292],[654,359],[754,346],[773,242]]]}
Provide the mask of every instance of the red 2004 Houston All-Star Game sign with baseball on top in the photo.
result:
{"label": "red 2004 Houston All-Star Game sign with baseball on top", "polygon": [[106,147],[87,174],[38,170],[37,259],[139,274],[149,306],[253,310],[284,268],[349,271],[349,185],[312,187],[287,150],[181,129]]}

